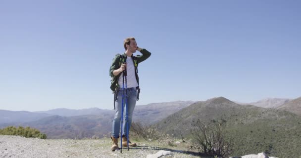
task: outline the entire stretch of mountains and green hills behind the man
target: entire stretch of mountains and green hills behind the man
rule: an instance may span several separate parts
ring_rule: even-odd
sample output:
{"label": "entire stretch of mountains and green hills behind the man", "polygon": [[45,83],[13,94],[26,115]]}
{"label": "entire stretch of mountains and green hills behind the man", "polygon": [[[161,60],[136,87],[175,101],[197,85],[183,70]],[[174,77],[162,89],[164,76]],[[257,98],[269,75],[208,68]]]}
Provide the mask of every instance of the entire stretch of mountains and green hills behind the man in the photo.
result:
{"label": "entire stretch of mountains and green hills behind the man", "polygon": [[[34,113],[0,110],[0,127],[30,126],[50,139],[103,137],[111,131],[113,116],[114,110],[98,108]],[[267,98],[249,104],[238,104],[224,97],[199,102],[152,103],[136,106],[133,117],[133,121],[151,124],[173,137],[192,141],[190,129],[198,119],[211,123],[226,121],[228,137],[235,138],[235,155],[263,150],[279,158],[288,158],[287,153],[301,155],[301,97]]]}

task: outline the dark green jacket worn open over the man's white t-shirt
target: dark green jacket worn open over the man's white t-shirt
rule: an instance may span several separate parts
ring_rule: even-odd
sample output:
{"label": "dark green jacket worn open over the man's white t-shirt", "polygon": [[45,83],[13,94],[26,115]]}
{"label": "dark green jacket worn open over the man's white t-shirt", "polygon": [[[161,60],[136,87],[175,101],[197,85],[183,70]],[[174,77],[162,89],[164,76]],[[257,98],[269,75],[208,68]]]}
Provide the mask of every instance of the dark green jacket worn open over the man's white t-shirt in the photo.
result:
{"label": "dark green jacket worn open over the man's white t-shirt", "polygon": [[[148,59],[151,56],[151,52],[149,52],[146,49],[142,49],[140,52],[142,53],[142,55],[137,55],[137,56],[132,55],[131,56],[132,59],[133,59],[134,66],[135,66],[135,76],[136,76],[138,85],[139,85],[138,64],[145,61],[146,59]],[[120,68],[120,66],[121,66],[121,63],[120,63],[121,59],[120,58],[124,59],[124,62],[126,62],[127,56],[125,55],[125,53],[117,54],[114,57],[112,65],[110,67],[110,77],[111,77],[111,86],[110,86],[110,88],[111,88],[112,91],[115,91],[116,87],[119,87],[118,79],[119,79],[119,77],[122,73],[118,74],[117,76],[114,76],[113,71]]]}

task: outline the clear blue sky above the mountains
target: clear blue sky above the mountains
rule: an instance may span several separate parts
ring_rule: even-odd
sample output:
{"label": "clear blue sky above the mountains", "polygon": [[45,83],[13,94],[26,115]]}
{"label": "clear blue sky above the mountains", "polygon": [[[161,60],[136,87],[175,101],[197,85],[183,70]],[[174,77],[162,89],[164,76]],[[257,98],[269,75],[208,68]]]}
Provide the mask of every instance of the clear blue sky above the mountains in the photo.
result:
{"label": "clear blue sky above the mountains", "polygon": [[[0,109],[113,109],[109,67],[135,37],[137,105],[301,96],[298,0],[1,0]],[[136,54],[140,54],[137,52]]]}

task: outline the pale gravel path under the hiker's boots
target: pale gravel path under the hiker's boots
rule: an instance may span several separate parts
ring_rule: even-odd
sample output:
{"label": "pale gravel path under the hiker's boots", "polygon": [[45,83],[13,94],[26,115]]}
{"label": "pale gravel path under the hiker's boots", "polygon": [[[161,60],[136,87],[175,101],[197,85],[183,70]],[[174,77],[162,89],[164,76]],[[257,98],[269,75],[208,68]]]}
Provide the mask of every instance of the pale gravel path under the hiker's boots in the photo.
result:
{"label": "pale gravel path under the hiker's boots", "polygon": [[[120,143],[120,142],[119,142]],[[138,147],[110,151],[111,141],[104,139],[37,139],[0,135],[0,158],[146,158],[159,150],[172,154],[160,158],[199,158],[183,151],[155,147],[139,142]]]}

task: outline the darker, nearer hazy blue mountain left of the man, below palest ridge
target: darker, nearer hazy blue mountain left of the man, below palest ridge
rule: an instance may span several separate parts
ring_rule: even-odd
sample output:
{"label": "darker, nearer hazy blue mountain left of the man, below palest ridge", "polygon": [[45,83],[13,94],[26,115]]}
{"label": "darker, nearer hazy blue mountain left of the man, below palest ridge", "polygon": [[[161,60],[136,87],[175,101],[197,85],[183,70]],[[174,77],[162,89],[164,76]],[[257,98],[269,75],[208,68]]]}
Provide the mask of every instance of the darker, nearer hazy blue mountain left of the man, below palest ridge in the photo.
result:
{"label": "darker, nearer hazy blue mountain left of the man, below palest ridge", "polygon": [[113,115],[85,115],[74,117],[50,116],[32,122],[10,123],[6,126],[30,126],[39,129],[48,139],[77,139],[103,137],[112,128]]}

